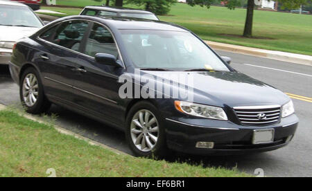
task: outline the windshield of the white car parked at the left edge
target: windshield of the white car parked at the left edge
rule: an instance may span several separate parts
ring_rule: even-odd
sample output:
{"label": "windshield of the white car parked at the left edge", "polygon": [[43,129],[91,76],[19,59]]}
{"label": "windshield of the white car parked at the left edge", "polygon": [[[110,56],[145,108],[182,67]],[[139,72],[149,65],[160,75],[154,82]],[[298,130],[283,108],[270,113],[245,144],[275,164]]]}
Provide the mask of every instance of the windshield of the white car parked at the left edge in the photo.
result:
{"label": "windshield of the white car parked at the left edge", "polygon": [[0,26],[40,28],[42,23],[28,7],[0,5]]}

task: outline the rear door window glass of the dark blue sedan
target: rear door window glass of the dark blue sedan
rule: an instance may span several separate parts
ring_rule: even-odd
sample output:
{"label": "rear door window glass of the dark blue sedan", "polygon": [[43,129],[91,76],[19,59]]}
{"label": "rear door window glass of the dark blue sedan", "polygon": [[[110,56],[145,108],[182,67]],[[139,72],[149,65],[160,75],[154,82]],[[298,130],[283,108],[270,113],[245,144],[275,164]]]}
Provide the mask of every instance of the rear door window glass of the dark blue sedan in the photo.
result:
{"label": "rear door window glass of the dark blue sedan", "polygon": [[87,30],[87,21],[68,21],[58,27],[53,43],[73,51],[79,51],[83,35]]}

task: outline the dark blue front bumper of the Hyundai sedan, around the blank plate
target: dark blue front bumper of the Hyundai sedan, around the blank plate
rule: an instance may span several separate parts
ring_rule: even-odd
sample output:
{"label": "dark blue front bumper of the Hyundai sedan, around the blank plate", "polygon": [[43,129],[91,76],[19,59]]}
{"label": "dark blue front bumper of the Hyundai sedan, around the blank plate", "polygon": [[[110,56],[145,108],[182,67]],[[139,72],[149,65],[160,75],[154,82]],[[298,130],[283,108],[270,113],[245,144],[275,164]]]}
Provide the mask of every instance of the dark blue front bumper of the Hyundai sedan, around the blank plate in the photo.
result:
{"label": "dark blue front bumper of the Hyundai sedan, around the blank plate", "polygon": [[[193,122],[193,121],[190,121]],[[220,126],[220,124],[224,126]],[[166,140],[170,149],[187,154],[234,155],[252,152],[268,152],[288,145],[289,136],[297,129],[298,118],[295,114],[281,119],[275,125],[252,127],[235,125],[229,121],[218,121],[218,126],[193,125],[187,120],[166,118]],[[254,129],[275,129],[273,143],[252,144]],[[198,142],[214,142],[213,149],[197,148]]]}

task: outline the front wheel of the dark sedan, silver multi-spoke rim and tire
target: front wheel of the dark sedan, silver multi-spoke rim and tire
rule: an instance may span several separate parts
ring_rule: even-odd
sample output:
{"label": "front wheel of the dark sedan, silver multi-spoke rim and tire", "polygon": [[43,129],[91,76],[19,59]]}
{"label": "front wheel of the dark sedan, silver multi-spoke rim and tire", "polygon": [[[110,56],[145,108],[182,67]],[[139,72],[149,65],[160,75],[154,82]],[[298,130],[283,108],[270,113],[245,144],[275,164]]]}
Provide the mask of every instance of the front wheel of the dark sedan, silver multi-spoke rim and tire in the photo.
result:
{"label": "front wheel of the dark sedan, silver multi-spoke rim and tire", "polygon": [[[144,113],[144,128],[142,129],[137,125],[137,123],[132,122],[134,119],[137,119],[137,122],[142,126],[139,116],[140,112]],[[149,113],[148,120],[146,120],[146,112]],[[148,126],[148,122],[151,122],[153,118],[156,119],[156,122],[152,125]],[[147,121],[147,122],[146,122]],[[162,121],[162,118],[159,116],[159,112],[157,111],[157,108],[151,104],[148,101],[141,101],[135,104],[130,111],[128,112],[128,116],[126,118],[126,129],[125,129],[125,138],[128,142],[128,145],[132,152],[134,152],[135,156],[143,156],[143,157],[164,157],[167,153],[167,147],[166,147],[166,134],[164,129],[164,122]],[[135,128],[134,128],[135,127]],[[150,127],[150,130],[148,130],[148,127]],[[158,127],[158,131],[157,128]],[[132,129],[135,129],[133,131],[136,131],[136,133],[132,132]],[[142,132],[140,132],[140,129]],[[139,138],[140,134],[144,134],[141,137],[141,140],[139,141],[139,144],[135,144],[135,138]],[[152,135],[150,135],[152,134]],[[157,142],[155,143],[154,138],[157,137]],[[145,147],[142,149],[142,145],[144,143],[142,142],[145,138]],[[152,144],[152,147],[150,147]]]}

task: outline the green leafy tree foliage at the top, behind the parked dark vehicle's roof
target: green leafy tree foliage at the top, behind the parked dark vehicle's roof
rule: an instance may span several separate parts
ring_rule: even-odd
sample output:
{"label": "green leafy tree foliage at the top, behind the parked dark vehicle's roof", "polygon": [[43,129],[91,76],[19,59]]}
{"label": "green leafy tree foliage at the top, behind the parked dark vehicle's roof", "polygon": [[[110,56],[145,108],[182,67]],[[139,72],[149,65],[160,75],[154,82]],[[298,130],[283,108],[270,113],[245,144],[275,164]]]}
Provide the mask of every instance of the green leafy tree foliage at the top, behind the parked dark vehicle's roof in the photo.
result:
{"label": "green leafy tree foliage at the top, behind the parked dark vehicle's roof", "polygon": [[126,0],[137,6],[144,6],[145,10],[154,12],[156,15],[165,15],[170,11],[171,5],[177,0]]}

